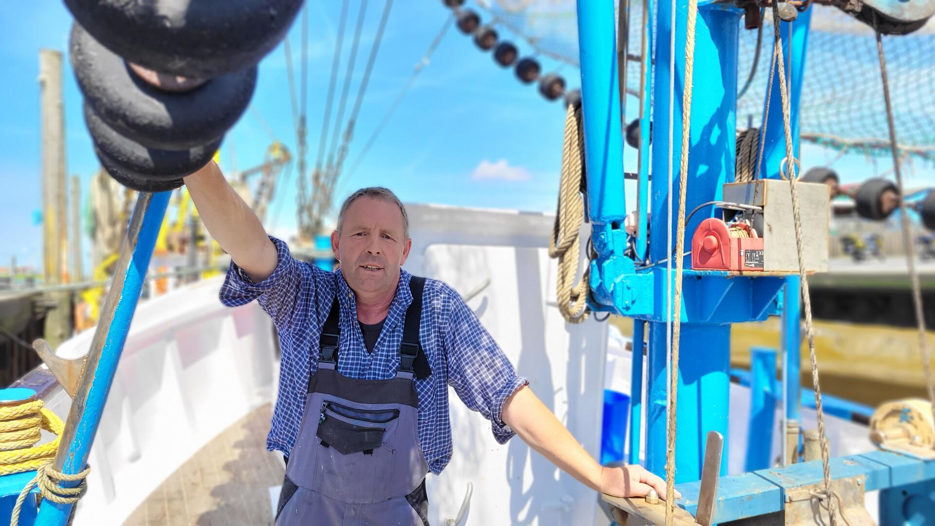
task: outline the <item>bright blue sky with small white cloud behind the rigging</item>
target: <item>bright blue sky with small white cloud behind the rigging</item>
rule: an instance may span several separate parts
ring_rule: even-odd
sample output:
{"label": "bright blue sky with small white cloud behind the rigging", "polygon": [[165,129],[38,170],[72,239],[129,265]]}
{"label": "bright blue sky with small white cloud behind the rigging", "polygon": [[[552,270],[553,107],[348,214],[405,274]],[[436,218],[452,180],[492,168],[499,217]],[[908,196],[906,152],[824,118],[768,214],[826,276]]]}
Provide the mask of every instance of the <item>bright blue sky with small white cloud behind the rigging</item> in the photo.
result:
{"label": "bright blue sky with small white cloud behind the rigging", "polygon": [[[369,2],[351,97],[356,93],[382,5],[380,1]],[[352,4],[348,16],[345,56],[356,6]],[[339,3],[311,2],[309,8],[309,164],[314,164]],[[0,266],[7,266],[9,256],[17,256],[19,264],[37,267],[42,246],[41,227],[33,223],[33,214],[41,207],[38,51],[66,51],[71,18],[60,2],[7,3],[0,13],[7,22],[0,32],[0,61],[5,74],[0,82],[4,101],[0,110]],[[370,132],[448,16],[449,11],[440,1],[395,2],[346,168],[356,163]],[[484,17],[487,15],[482,12]],[[298,29],[295,23],[290,34],[296,67]],[[518,45],[521,51],[529,51],[525,43]],[[98,163],[81,117],[79,90],[67,58],[65,63],[67,173],[80,176],[84,194]],[[558,67],[547,60],[543,60],[543,66],[546,71]],[[579,85],[577,69],[564,66],[561,73],[568,77],[569,88]],[[338,88],[342,76],[343,70]],[[282,46],[260,64],[252,110],[295,153]],[[407,202],[552,212],[558,190],[563,121],[564,110],[559,102],[547,102],[535,85],[521,84],[511,70],[496,66],[489,53],[479,51],[469,37],[452,28],[361,166],[350,177],[345,170],[336,197],[342,198],[360,186],[381,184],[393,188]],[[269,141],[263,126],[248,111],[224,140],[222,168],[229,169],[232,160],[241,169],[259,164]],[[807,146],[803,167],[820,164],[833,155]],[[879,171],[888,168],[885,160],[878,162]],[[634,151],[628,148],[625,164],[628,169],[635,164]],[[846,156],[835,168],[845,181],[854,181],[870,175],[867,165],[862,156]],[[273,233],[288,236],[295,231],[295,175],[287,185],[278,187],[277,199],[270,207],[271,211],[277,209],[281,212]],[[84,245],[87,250],[88,242],[84,241]]]}

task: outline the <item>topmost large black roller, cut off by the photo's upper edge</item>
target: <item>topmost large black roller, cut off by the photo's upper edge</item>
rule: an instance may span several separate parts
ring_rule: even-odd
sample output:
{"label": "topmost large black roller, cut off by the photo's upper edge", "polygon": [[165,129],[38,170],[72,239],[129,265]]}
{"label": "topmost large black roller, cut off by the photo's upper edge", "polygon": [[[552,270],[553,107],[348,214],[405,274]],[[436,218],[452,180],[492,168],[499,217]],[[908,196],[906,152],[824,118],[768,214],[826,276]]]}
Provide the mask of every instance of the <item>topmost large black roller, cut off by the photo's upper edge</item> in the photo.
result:
{"label": "topmost large black roller, cut off by the photo's upper edge", "polygon": [[147,68],[207,79],[272,51],[302,0],[65,0],[109,50]]}

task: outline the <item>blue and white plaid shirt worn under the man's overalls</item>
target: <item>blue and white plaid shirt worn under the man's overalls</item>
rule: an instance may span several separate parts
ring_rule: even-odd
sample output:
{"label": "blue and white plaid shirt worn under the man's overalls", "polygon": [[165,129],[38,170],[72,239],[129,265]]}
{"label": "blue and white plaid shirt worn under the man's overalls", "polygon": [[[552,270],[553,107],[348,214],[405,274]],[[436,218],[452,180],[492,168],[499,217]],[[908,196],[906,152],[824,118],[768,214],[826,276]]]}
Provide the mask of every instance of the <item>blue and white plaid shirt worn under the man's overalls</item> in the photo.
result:
{"label": "blue and white plaid shirt worn under the man's overalls", "polygon": [[[351,378],[393,378],[399,367],[403,320],[412,301],[411,275],[402,270],[396,297],[372,353],[367,353],[357,324],[354,294],[340,270],[328,272],[294,259],[284,241],[276,245],[276,270],[253,283],[231,262],[221,287],[228,307],[258,300],[273,319],[280,337],[279,397],[273,412],[266,448],[286,455],[298,436],[305,408],[309,374],[318,367],[319,336],[338,292],[341,329],[338,373]],[[419,395],[419,443],[432,473],[439,475],[452,458],[452,425],[448,414],[448,386],[468,408],[492,422],[500,444],[514,432],[501,419],[503,403],[528,382],[516,375],[510,361],[483,328],[457,292],[438,280],[425,280],[420,339],[431,376],[415,380]]]}

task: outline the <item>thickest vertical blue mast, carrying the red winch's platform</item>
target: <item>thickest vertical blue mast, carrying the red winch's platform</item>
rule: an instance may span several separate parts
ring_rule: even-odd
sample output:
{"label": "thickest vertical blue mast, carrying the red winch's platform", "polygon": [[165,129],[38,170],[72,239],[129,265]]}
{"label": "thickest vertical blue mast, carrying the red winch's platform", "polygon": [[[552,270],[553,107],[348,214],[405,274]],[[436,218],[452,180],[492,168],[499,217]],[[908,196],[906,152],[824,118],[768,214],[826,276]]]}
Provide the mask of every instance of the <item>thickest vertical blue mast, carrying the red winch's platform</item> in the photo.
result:
{"label": "thickest vertical blue mast, carrying the red winch's platform", "polygon": [[[672,251],[667,242],[669,227],[675,239],[677,216],[668,223],[669,191],[678,203],[678,167],[681,157],[682,79],[684,77],[685,0],[678,0],[676,26],[670,23],[671,2],[660,2],[654,66],[653,190],[650,256],[665,261]],[[721,186],[734,178],[737,107],[737,39],[742,11],[736,7],[703,3],[698,8],[695,37],[695,91],[691,117],[691,156],[688,165],[686,210],[721,196]],[[669,46],[674,31],[675,47]],[[669,57],[675,56],[675,79],[669,79]],[[698,66],[698,65],[703,65]],[[675,82],[672,111],[672,187],[667,183],[669,169],[669,83]],[[712,210],[695,214],[686,227],[686,240]],[[690,261],[685,268],[690,268]],[[674,268],[674,265],[673,265]],[[674,272],[673,272],[674,274]],[[718,280],[720,277],[704,277]],[[662,288],[665,291],[665,287]],[[663,292],[665,294],[665,292]],[[713,301],[714,299],[712,299]],[[676,315],[679,315],[677,313]],[[666,463],[666,336],[664,320],[650,323],[646,467],[663,475]],[[679,408],[676,436],[676,482],[697,480],[701,475],[704,437],[720,431],[725,439],[729,405],[730,326],[701,323],[682,325],[679,371]],[[703,408],[703,411],[702,411]],[[725,448],[727,445],[725,444]],[[726,474],[726,460],[722,474]]]}

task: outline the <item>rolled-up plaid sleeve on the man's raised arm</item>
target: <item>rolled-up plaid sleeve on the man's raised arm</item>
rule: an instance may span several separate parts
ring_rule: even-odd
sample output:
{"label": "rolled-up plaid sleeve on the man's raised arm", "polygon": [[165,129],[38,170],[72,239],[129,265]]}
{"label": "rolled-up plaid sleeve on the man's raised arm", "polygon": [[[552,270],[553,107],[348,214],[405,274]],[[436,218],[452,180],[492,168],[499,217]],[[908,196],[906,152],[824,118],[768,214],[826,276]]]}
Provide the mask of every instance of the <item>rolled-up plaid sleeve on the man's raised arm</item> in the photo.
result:
{"label": "rolled-up plaid sleeve on the man's raised arm", "polygon": [[[238,307],[257,300],[266,314],[273,319],[277,329],[286,329],[295,313],[295,305],[303,288],[299,263],[289,252],[285,241],[269,236],[276,246],[276,269],[265,280],[253,283],[243,269],[231,261],[227,276],[221,285],[221,302],[228,307]],[[313,280],[309,280],[309,286]]]}

